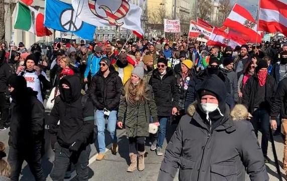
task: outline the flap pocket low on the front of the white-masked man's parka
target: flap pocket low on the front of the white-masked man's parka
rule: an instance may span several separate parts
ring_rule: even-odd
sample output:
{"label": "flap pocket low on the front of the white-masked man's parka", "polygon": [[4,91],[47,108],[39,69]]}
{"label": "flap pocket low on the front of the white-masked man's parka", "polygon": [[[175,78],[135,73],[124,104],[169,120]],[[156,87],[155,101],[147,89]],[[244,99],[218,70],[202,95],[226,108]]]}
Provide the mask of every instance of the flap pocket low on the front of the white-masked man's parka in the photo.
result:
{"label": "flap pocket low on the front of the white-masked man's parka", "polygon": [[237,169],[236,166],[231,165],[211,165],[211,181],[236,181],[237,180]]}

